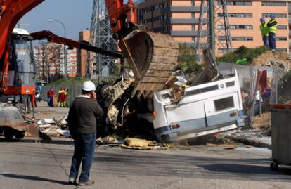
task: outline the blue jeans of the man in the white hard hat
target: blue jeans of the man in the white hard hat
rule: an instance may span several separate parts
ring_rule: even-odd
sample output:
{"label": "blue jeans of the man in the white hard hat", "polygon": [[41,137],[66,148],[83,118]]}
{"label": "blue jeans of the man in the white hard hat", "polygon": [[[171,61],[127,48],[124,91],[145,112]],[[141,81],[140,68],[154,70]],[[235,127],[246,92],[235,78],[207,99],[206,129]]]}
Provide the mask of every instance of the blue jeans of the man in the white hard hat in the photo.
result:
{"label": "blue jeans of the man in the white hard hat", "polygon": [[79,167],[82,162],[79,183],[84,183],[89,180],[90,176],[90,169],[95,154],[96,133],[76,134],[76,136],[74,136],[74,145],[75,150],[72,157],[70,178],[77,179]]}

